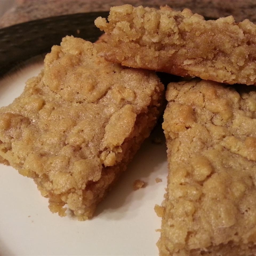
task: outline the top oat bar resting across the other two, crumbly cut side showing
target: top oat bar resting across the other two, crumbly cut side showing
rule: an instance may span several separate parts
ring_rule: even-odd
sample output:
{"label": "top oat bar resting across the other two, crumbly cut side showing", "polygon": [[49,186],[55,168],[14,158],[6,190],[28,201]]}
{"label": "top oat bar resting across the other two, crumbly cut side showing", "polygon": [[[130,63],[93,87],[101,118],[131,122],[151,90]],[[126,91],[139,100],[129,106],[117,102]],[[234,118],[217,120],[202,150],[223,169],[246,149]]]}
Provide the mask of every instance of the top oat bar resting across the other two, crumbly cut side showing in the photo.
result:
{"label": "top oat bar resting across the other two, crumbly cut side showing", "polygon": [[232,16],[204,20],[189,9],[169,6],[112,7],[96,26],[108,40],[97,45],[107,60],[128,67],[227,84],[256,84],[256,25]]}

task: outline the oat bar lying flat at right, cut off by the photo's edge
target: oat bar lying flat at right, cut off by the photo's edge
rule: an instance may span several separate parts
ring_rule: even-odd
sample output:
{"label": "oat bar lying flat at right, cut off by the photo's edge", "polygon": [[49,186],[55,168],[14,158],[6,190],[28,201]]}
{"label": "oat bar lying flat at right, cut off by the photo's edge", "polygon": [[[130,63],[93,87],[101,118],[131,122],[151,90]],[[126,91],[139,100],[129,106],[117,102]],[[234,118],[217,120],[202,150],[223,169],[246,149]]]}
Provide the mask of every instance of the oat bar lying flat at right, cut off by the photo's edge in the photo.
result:
{"label": "oat bar lying flat at right, cut off by the photo's edge", "polygon": [[256,255],[256,88],[171,83],[160,255]]}

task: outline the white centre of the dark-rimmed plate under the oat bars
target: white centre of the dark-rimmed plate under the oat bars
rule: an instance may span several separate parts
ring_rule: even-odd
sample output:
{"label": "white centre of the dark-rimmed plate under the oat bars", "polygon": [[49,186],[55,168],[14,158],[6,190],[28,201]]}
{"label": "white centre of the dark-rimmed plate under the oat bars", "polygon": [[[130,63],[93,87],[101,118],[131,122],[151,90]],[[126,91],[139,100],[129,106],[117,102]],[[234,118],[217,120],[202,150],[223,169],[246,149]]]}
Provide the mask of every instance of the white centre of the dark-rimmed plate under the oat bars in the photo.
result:
{"label": "white centre of the dark-rimmed plate under the oat bars", "polygon": [[[19,96],[25,81],[42,68],[41,60],[0,79],[0,107]],[[165,142],[156,145],[151,140],[152,136],[99,204],[95,217],[83,222],[52,214],[33,180],[0,164],[0,256],[158,255],[160,234],[155,230],[161,219],[154,205],[163,200],[167,162]],[[157,177],[163,182],[156,183]],[[148,186],[134,191],[137,179]]]}

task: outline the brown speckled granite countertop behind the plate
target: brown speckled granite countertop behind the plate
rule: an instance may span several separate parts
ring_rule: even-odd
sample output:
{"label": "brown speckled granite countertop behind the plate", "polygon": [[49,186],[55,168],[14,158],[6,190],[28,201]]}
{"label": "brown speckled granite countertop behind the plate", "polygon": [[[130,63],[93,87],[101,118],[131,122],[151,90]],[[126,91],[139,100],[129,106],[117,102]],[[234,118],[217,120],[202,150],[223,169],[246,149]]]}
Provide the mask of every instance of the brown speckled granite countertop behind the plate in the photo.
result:
{"label": "brown speckled granite countertop behind the plate", "polygon": [[149,7],[167,4],[177,10],[189,8],[206,17],[233,15],[236,21],[248,18],[256,23],[255,0],[15,0],[14,6],[0,17],[0,28],[44,17],[108,11],[111,6],[125,3]]}

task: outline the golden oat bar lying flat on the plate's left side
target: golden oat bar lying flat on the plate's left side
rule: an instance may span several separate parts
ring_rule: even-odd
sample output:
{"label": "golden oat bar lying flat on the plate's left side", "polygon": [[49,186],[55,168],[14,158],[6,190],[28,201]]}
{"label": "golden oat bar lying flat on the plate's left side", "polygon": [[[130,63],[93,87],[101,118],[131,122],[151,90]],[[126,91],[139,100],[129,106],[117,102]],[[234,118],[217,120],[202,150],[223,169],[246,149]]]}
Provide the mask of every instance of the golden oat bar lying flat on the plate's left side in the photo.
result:
{"label": "golden oat bar lying flat on the plate's left side", "polygon": [[67,205],[90,218],[148,137],[162,95],[154,73],[109,63],[92,43],[66,37],[0,109],[0,160],[33,178],[52,212],[64,216]]}

